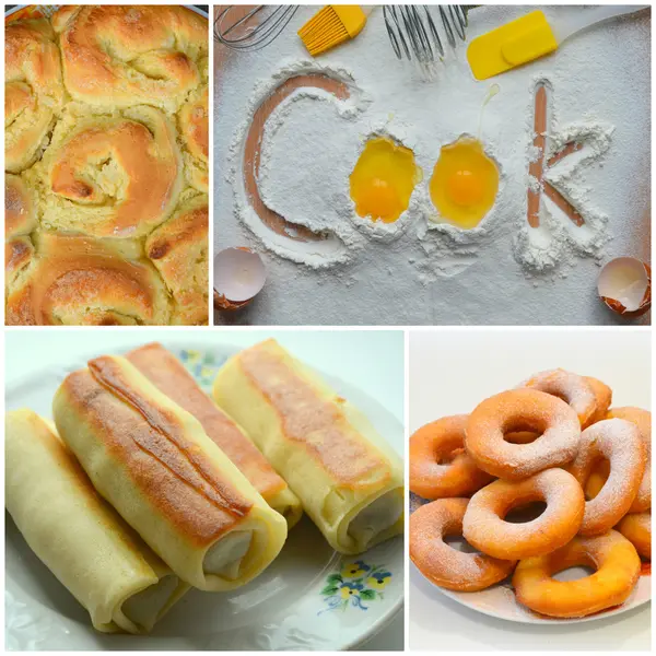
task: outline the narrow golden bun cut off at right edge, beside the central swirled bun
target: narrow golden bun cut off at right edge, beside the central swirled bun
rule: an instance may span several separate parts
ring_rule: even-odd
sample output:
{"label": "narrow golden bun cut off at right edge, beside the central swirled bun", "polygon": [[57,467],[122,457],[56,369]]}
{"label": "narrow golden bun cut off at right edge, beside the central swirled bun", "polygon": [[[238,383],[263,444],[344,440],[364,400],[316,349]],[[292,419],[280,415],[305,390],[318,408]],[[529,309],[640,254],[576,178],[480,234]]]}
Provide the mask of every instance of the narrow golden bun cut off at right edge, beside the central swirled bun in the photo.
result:
{"label": "narrow golden bun cut off at right edge, beside the central swirled bun", "polygon": [[183,156],[189,184],[199,191],[208,192],[208,85],[198,89],[178,113],[183,138]]}

